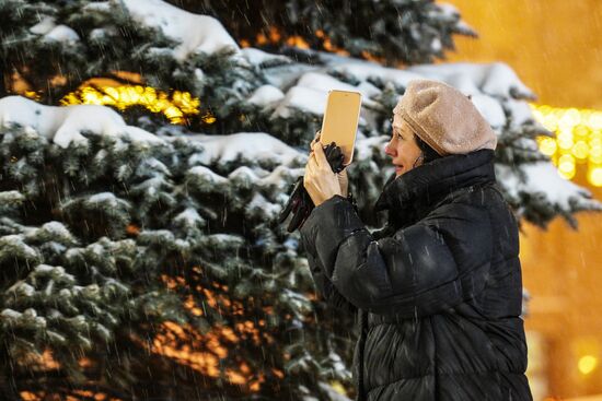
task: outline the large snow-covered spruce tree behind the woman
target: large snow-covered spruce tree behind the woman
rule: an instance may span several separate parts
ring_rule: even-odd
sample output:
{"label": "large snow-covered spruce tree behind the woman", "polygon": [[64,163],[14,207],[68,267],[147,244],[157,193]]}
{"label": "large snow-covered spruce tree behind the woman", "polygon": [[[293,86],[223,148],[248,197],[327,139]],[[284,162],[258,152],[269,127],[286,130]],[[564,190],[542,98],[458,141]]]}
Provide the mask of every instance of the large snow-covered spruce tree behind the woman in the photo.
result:
{"label": "large snow-covered spruce tree behind the woman", "polygon": [[[511,69],[428,64],[452,34],[474,34],[452,8],[236,4],[0,0],[8,399],[324,400],[341,398],[337,384],[354,397],[355,308],[316,294],[298,233],[276,224],[331,89],[363,95],[349,177],[370,227],[384,222],[371,207],[393,173],[392,109],[415,78],[471,95],[496,129],[519,220],[575,225],[601,209],[537,151],[549,133]],[[280,42],[257,40],[275,30]],[[199,113],[183,127],[143,107],[73,104],[96,78],[185,91]]]}

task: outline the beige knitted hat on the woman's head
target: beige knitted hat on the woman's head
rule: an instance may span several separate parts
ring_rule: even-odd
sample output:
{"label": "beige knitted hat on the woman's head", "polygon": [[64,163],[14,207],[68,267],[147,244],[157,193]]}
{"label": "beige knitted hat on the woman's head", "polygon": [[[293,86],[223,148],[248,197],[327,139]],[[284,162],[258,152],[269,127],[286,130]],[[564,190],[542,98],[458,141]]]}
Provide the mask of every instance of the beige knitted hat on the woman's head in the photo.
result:
{"label": "beige knitted hat on the woman's head", "polygon": [[442,156],[497,145],[496,132],[471,99],[442,82],[410,81],[393,114]]}

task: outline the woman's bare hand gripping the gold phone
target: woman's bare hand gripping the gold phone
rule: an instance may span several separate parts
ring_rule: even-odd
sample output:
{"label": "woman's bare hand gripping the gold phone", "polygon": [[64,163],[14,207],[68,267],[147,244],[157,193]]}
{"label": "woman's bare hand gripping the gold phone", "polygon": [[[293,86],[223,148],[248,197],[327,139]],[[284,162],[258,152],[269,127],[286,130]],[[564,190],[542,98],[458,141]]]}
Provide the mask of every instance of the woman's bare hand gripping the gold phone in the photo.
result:
{"label": "woman's bare hand gripping the gold phone", "polygon": [[322,143],[313,144],[310,160],[305,166],[305,176],[303,177],[303,186],[310,194],[315,207],[331,199],[335,194],[343,196],[339,184],[339,178],[328,164]]}

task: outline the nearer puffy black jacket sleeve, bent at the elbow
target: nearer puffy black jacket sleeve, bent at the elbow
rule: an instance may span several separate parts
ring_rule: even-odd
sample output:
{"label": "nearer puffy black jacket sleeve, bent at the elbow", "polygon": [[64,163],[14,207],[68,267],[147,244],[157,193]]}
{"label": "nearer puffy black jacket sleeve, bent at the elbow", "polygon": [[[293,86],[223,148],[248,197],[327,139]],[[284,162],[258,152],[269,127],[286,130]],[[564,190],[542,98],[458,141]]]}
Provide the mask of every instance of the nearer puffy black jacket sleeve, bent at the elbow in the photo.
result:
{"label": "nearer puffy black jacket sleeve, bent at the elbow", "polygon": [[374,240],[352,205],[335,196],[312,211],[301,236],[326,278],[358,308],[409,318],[462,302],[452,252],[426,224]]}

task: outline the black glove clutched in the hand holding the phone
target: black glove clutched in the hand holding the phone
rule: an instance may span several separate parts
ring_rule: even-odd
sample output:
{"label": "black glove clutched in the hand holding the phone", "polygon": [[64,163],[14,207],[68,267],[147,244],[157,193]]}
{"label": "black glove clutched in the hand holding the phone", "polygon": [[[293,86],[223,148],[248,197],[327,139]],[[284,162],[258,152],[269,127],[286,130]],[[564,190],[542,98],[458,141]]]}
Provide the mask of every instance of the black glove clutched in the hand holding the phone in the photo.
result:
{"label": "black glove clutched in the hand holding the phone", "polygon": [[[343,165],[345,155],[335,142],[331,142],[331,144],[324,146],[324,154],[326,155],[326,160],[328,161],[333,173],[340,173],[345,168]],[[282,209],[280,215],[278,216],[278,224],[281,224],[285,220],[287,220],[290,212],[292,212],[292,219],[287,227],[287,231],[292,233],[293,231],[301,228],[313,208],[313,201],[303,186],[303,176],[301,176],[292,185],[292,192],[287,205]]]}

